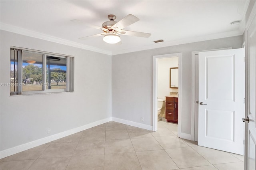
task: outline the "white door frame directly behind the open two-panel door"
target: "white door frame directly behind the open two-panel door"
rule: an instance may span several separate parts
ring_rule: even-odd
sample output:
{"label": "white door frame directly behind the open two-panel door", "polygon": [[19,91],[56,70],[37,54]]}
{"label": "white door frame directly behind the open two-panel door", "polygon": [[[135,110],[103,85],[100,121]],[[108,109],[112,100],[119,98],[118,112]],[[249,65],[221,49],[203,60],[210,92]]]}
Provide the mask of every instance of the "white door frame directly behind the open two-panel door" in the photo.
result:
{"label": "white door frame directly behind the open two-panel door", "polygon": [[[201,51],[192,51],[191,52],[191,139],[198,141],[198,121],[196,122],[196,113],[195,113],[195,103],[196,103],[196,55],[199,52],[203,51],[218,51],[224,49],[232,49],[232,47],[226,48],[216,48],[216,49],[206,49]],[[197,87],[198,88],[198,87]]]}

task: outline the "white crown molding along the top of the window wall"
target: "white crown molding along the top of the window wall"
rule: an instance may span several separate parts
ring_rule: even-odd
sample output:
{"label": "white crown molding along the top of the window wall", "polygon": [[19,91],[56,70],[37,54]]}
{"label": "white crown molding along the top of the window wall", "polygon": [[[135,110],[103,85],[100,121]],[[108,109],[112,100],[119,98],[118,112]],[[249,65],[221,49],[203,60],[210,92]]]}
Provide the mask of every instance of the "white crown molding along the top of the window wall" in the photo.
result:
{"label": "white crown molding along the top of the window wall", "polygon": [[81,44],[81,43],[76,43],[76,42],[64,40],[62,38],[49,36],[49,35],[46,35],[46,34],[42,34],[40,32],[27,30],[27,29],[20,28],[20,27],[17,27],[17,26],[12,26],[12,25],[9,25],[9,24],[5,24],[5,23],[2,23],[2,22],[0,23],[0,30],[13,32],[13,33],[16,33],[16,34],[21,34],[21,35],[29,36],[29,37],[33,37],[33,38],[39,38],[39,39],[42,39],[42,40],[55,42],[55,43],[60,43],[60,44],[63,44],[63,45],[69,45],[69,46],[77,47],[77,48],[81,48],[81,49],[86,49],[86,50],[89,50],[89,51],[94,51],[94,52],[98,52],[98,53],[112,55],[111,51],[106,51],[104,49],[92,47],[92,46],[89,46],[89,45],[84,45],[84,44]]}

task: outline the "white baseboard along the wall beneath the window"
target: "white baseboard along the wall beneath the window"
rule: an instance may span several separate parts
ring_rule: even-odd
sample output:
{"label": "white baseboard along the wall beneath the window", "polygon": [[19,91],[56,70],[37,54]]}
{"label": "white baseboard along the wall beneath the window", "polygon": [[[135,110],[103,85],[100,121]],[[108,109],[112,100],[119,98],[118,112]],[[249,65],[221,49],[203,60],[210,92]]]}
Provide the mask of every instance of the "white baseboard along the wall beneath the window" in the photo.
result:
{"label": "white baseboard along the wall beneath the window", "polygon": [[16,154],[16,153],[19,153],[19,152],[22,152],[24,150],[28,150],[30,148],[34,148],[36,146],[39,146],[41,144],[45,144],[45,143],[48,143],[48,142],[51,142],[53,140],[57,140],[59,138],[63,138],[63,137],[66,137],[68,135],[71,135],[71,134],[74,134],[74,133],[77,133],[77,132],[80,132],[82,130],[86,130],[88,128],[92,128],[92,127],[95,127],[95,126],[98,126],[98,125],[101,125],[103,123],[107,123],[111,121],[111,117],[109,118],[106,118],[106,119],[102,119],[100,121],[96,121],[96,122],[93,122],[93,123],[89,123],[87,125],[83,125],[81,127],[77,127],[77,128],[73,128],[73,129],[70,129],[70,130],[67,130],[65,132],[60,132],[58,134],[53,134],[51,136],[47,136],[45,138],[41,138],[41,139],[38,139],[38,140],[34,140],[32,142],[28,142],[28,143],[25,143],[25,144],[21,144],[19,146],[15,146],[13,148],[9,148],[9,149],[6,149],[6,150],[2,150],[0,151],[0,158],[5,158],[7,156],[10,156],[10,155],[13,155],[13,154]]}

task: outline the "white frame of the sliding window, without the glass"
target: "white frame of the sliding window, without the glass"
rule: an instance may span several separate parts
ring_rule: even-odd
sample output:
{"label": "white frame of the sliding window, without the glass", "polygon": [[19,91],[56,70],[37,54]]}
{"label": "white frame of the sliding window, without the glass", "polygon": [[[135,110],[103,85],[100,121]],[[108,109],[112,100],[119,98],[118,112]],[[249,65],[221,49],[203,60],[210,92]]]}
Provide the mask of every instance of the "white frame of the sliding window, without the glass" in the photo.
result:
{"label": "white frame of the sliding window, without the glass", "polygon": [[[51,53],[46,51],[39,51],[34,49],[27,49],[22,47],[10,47],[10,68],[11,68],[11,62],[12,62],[12,53],[11,51],[14,50],[15,55],[15,49],[18,51],[20,50],[20,54],[17,57],[17,65],[18,68],[14,71],[17,72],[17,77],[14,78],[14,85],[17,84],[18,86],[14,89],[14,91],[11,90],[10,87],[10,96],[15,95],[35,95],[35,94],[49,94],[49,93],[64,93],[64,92],[73,92],[74,91],[74,56],[71,55],[63,55],[58,53]],[[23,63],[23,52],[29,52],[29,53],[38,53],[42,54],[42,90],[39,91],[23,91],[23,81],[22,81],[22,63]],[[46,82],[47,82],[47,56],[52,57],[60,57],[60,58],[66,58],[66,89],[46,89]],[[15,60],[15,58],[14,58]],[[10,69],[11,71],[11,69]],[[11,78],[11,75],[10,75]],[[11,79],[10,79],[11,83]]]}

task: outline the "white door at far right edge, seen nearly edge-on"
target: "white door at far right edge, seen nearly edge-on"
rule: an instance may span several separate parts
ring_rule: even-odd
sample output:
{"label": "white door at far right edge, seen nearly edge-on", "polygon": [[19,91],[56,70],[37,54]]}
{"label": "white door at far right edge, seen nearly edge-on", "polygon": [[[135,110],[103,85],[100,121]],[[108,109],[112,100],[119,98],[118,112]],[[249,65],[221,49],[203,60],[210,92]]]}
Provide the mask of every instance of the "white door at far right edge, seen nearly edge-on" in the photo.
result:
{"label": "white door at far right edge, seen nearly edge-on", "polygon": [[246,142],[245,169],[256,169],[256,3],[246,24]]}

